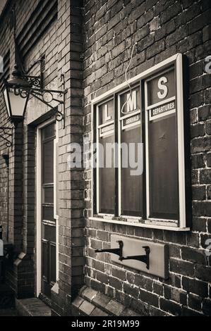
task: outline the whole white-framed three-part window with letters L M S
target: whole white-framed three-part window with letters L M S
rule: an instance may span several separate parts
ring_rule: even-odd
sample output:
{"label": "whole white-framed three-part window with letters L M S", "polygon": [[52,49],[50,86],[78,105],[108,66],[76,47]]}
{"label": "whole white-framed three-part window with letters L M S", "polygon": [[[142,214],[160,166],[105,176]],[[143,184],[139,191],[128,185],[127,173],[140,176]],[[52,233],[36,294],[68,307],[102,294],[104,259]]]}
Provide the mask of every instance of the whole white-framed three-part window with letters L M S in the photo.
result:
{"label": "whole white-framed three-part window with letters L M S", "polygon": [[188,230],[181,54],[97,97],[92,118],[92,216]]}

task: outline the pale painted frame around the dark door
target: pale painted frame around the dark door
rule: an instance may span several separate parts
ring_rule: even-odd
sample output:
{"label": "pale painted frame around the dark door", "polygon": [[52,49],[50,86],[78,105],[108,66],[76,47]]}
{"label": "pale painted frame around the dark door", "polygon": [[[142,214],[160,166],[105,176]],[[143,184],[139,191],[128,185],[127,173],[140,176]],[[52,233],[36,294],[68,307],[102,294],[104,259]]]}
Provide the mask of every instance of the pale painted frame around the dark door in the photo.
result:
{"label": "pale painted frame around the dark door", "polygon": [[[55,118],[51,118],[44,123],[37,126],[37,144],[36,144],[36,295],[37,297],[41,293],[42,282],[42,138],[41,130],[49,124],[55,122]],[[56,215],[56,143],[58,142],[58,125],[55,123],[56,138],[54,139],[54,217],[56,220],[56,282],[59,278],[59,216]]]}

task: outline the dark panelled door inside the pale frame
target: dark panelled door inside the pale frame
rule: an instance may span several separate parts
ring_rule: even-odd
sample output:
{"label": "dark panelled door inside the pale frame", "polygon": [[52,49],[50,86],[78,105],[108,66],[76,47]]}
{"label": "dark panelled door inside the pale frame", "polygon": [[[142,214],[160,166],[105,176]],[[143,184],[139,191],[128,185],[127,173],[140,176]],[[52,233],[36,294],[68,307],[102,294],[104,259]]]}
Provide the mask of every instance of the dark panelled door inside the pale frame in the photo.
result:
{"label": "dark panelled door inside the pale frame", "polygon": [[51,296],[56,282],[56,221],[54,220],[54,139],[55,124],[42,129],[42,294]]}

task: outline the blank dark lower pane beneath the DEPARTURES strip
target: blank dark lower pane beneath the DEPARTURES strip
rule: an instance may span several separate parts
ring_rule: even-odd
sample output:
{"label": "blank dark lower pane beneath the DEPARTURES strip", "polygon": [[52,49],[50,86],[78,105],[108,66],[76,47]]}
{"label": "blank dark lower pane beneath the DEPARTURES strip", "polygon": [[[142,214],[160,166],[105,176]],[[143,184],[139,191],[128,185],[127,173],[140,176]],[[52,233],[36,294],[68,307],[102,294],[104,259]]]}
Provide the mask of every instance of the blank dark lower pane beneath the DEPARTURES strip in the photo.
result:
{"label": "blank dark lower pane beneath the DEPARTURES strip", "polygon": [[176,116],[149,123],[150,217],[178,219]]}

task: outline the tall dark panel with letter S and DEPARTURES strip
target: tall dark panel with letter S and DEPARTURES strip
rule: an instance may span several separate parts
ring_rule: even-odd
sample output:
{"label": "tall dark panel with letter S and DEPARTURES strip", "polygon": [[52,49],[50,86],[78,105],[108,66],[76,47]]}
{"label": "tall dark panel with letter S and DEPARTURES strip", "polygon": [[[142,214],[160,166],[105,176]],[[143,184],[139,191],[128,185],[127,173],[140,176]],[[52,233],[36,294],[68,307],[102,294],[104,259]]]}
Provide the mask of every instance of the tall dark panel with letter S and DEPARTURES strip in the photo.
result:
{"label": "tall dark panel with letter S and DEPARTURES strip", "polygon": [[145,80],[148,218],[179,219],[175,66]]}

